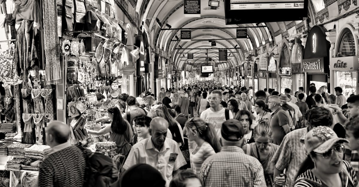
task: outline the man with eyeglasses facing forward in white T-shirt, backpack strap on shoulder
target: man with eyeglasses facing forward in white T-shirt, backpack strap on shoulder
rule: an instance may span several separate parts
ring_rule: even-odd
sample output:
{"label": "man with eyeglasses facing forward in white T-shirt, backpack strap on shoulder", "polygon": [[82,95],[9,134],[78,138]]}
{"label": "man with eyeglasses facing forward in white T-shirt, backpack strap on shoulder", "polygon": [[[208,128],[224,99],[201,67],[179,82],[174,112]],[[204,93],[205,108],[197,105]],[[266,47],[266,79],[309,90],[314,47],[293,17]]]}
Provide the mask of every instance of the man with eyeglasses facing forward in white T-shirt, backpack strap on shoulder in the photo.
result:
{"label": "man with eyeglasses facing forward in white T-shirt, backpack strap on shoulder", "polygon": [[[220,102],[222,101],[222,92],[219,90],[213,90],[208,97],[209,108],[202,112],[201,119],[206,123],[211,123],[214,125],[218,137],[220,137],[220,131],[224,121],[228,119],[233,119],[232,112],[222,108]],[[227,114],[227,118],[226,118]]]}

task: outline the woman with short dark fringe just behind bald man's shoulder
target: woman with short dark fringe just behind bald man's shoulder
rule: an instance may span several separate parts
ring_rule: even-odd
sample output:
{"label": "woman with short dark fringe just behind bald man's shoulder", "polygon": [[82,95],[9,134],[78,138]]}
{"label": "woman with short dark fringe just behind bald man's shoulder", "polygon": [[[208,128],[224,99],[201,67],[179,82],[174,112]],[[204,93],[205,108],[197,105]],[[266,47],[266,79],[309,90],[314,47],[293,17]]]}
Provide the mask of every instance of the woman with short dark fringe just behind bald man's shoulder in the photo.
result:
{"label": "woman with short dark fringe just behind bald man's shoulder", "polygon": [[151,137],[150,122],[151,118],[148,116],[138,116],[134,119],[136,134],[132,137],[132,146],[141,140]]}

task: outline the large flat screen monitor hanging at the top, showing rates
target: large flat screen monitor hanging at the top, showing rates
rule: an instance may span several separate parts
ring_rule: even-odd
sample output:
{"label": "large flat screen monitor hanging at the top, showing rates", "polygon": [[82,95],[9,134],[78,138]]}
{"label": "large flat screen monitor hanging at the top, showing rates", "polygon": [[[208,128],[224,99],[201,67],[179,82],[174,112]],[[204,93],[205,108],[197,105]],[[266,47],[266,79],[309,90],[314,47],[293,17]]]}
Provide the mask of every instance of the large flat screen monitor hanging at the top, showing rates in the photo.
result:
{"label": "large flat screen monitor hanging at the top, showing rates", "polygon": [[308,0],[224,0],[227,25],[303,20]]}

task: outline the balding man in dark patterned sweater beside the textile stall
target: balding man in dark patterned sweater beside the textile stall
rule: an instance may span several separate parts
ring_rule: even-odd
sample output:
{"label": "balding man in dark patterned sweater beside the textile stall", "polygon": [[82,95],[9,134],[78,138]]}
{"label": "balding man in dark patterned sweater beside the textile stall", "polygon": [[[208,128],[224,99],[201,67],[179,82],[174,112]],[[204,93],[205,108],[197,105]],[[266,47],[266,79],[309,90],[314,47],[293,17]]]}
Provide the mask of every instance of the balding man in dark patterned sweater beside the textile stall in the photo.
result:
{"label": "balding man in dark patterned sweater beside the textile stall", "polygon": [[38,186],[83,186],[85,157],[81,149],[69,143],[69,126],[51,121],[45,131],[52,150],[39,168]]}

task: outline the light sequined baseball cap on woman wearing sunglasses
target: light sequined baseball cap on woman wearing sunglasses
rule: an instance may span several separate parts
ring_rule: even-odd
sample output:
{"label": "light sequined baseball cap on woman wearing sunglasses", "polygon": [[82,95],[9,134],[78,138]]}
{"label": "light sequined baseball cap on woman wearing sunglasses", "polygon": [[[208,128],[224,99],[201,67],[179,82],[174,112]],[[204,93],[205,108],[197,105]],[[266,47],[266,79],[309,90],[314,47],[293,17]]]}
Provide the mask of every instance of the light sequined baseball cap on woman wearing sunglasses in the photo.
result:
{"label": "light sequined baseball cap on woman wearing sunglasses", "polygon": [[327,126],[318,126],[313,128],[306,134],[306,138],[304,139],[307,154],[312,151],[316,153],[325,153],[338,142],[348,143],[348,140],[339,138],[335,132]]}

